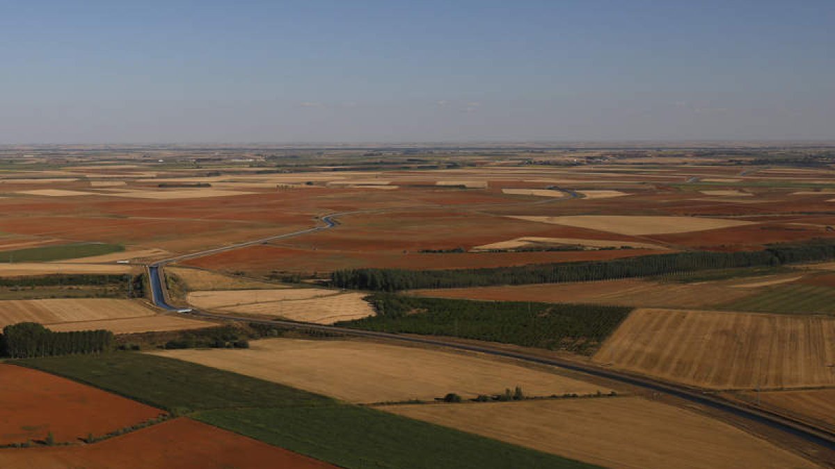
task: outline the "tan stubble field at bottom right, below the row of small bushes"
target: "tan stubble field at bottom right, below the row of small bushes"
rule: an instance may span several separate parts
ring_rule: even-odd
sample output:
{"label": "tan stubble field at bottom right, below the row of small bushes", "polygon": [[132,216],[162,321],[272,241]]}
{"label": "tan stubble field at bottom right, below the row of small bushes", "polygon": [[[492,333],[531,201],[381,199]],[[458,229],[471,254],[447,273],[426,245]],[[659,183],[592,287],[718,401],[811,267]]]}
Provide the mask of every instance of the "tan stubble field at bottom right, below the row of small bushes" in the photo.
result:
{"label": "tan stubble field at bottom right, below the row of small bushes", "polygon": [[721,421],[639,397],[382,409],[606,467],[817,467]]}

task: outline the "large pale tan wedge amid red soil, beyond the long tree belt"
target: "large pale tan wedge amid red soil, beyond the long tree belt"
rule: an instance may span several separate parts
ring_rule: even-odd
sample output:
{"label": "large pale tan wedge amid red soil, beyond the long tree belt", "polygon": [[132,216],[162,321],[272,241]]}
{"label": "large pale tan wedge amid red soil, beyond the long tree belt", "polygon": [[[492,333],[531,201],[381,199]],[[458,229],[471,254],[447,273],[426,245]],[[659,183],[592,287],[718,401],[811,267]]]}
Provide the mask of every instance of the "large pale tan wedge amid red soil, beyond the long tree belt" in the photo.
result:
{"label": "large pale tan wedge amid red soil, beyond the long tree belt", "polygon": [[632,215],[567,215],[567,216],[511,216],[539,223],[562,224],[576,228],[597,229],[620,235],[660,235],[689,233],[706,229],[729,228],[754,224],[736,219],[711,219],[677,216],[632,216]]}

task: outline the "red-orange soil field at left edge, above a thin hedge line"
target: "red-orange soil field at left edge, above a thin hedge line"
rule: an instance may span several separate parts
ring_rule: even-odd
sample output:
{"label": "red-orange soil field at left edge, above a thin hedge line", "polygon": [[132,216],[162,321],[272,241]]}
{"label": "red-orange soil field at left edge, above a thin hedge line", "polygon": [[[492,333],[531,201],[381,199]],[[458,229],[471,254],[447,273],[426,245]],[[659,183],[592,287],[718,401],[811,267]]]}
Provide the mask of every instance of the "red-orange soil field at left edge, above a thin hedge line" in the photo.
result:
{"label": "red-orange soil field at left edge, above a thin hedge line", "polygon": [[[43,440],[50,432],[55,441],[77,442],[89,433],[101,436],[164,413],[21,366],[0,364],[0,376],[0,444]],[[0,450],[0,454],[5,451]]]}

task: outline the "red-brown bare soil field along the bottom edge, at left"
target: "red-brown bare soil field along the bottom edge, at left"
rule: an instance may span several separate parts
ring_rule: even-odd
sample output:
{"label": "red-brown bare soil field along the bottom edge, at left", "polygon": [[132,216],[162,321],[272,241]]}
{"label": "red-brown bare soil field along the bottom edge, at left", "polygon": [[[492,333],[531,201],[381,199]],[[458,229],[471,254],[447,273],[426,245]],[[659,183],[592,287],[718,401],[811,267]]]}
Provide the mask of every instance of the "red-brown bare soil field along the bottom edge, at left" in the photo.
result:
{"label": "red-brown bare soil field along the bottom edge, at left", "polygon": [[0,466],[38,469],[336,467],[186,417],[94,445],[0,450]]}

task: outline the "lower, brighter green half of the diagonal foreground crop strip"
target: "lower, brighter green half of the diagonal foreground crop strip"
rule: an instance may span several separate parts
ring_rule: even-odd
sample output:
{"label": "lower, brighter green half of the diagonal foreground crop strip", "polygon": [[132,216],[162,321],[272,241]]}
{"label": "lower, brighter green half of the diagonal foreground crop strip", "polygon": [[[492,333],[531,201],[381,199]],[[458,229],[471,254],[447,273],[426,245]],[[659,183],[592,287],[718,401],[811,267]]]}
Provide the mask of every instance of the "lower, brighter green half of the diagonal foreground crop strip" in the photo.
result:
{"label": "lower, brighter green half of the diagonal foreground crop strip", "polygon": [[360,406],[205,411],[195,418],[344,467],[594,467]]}

